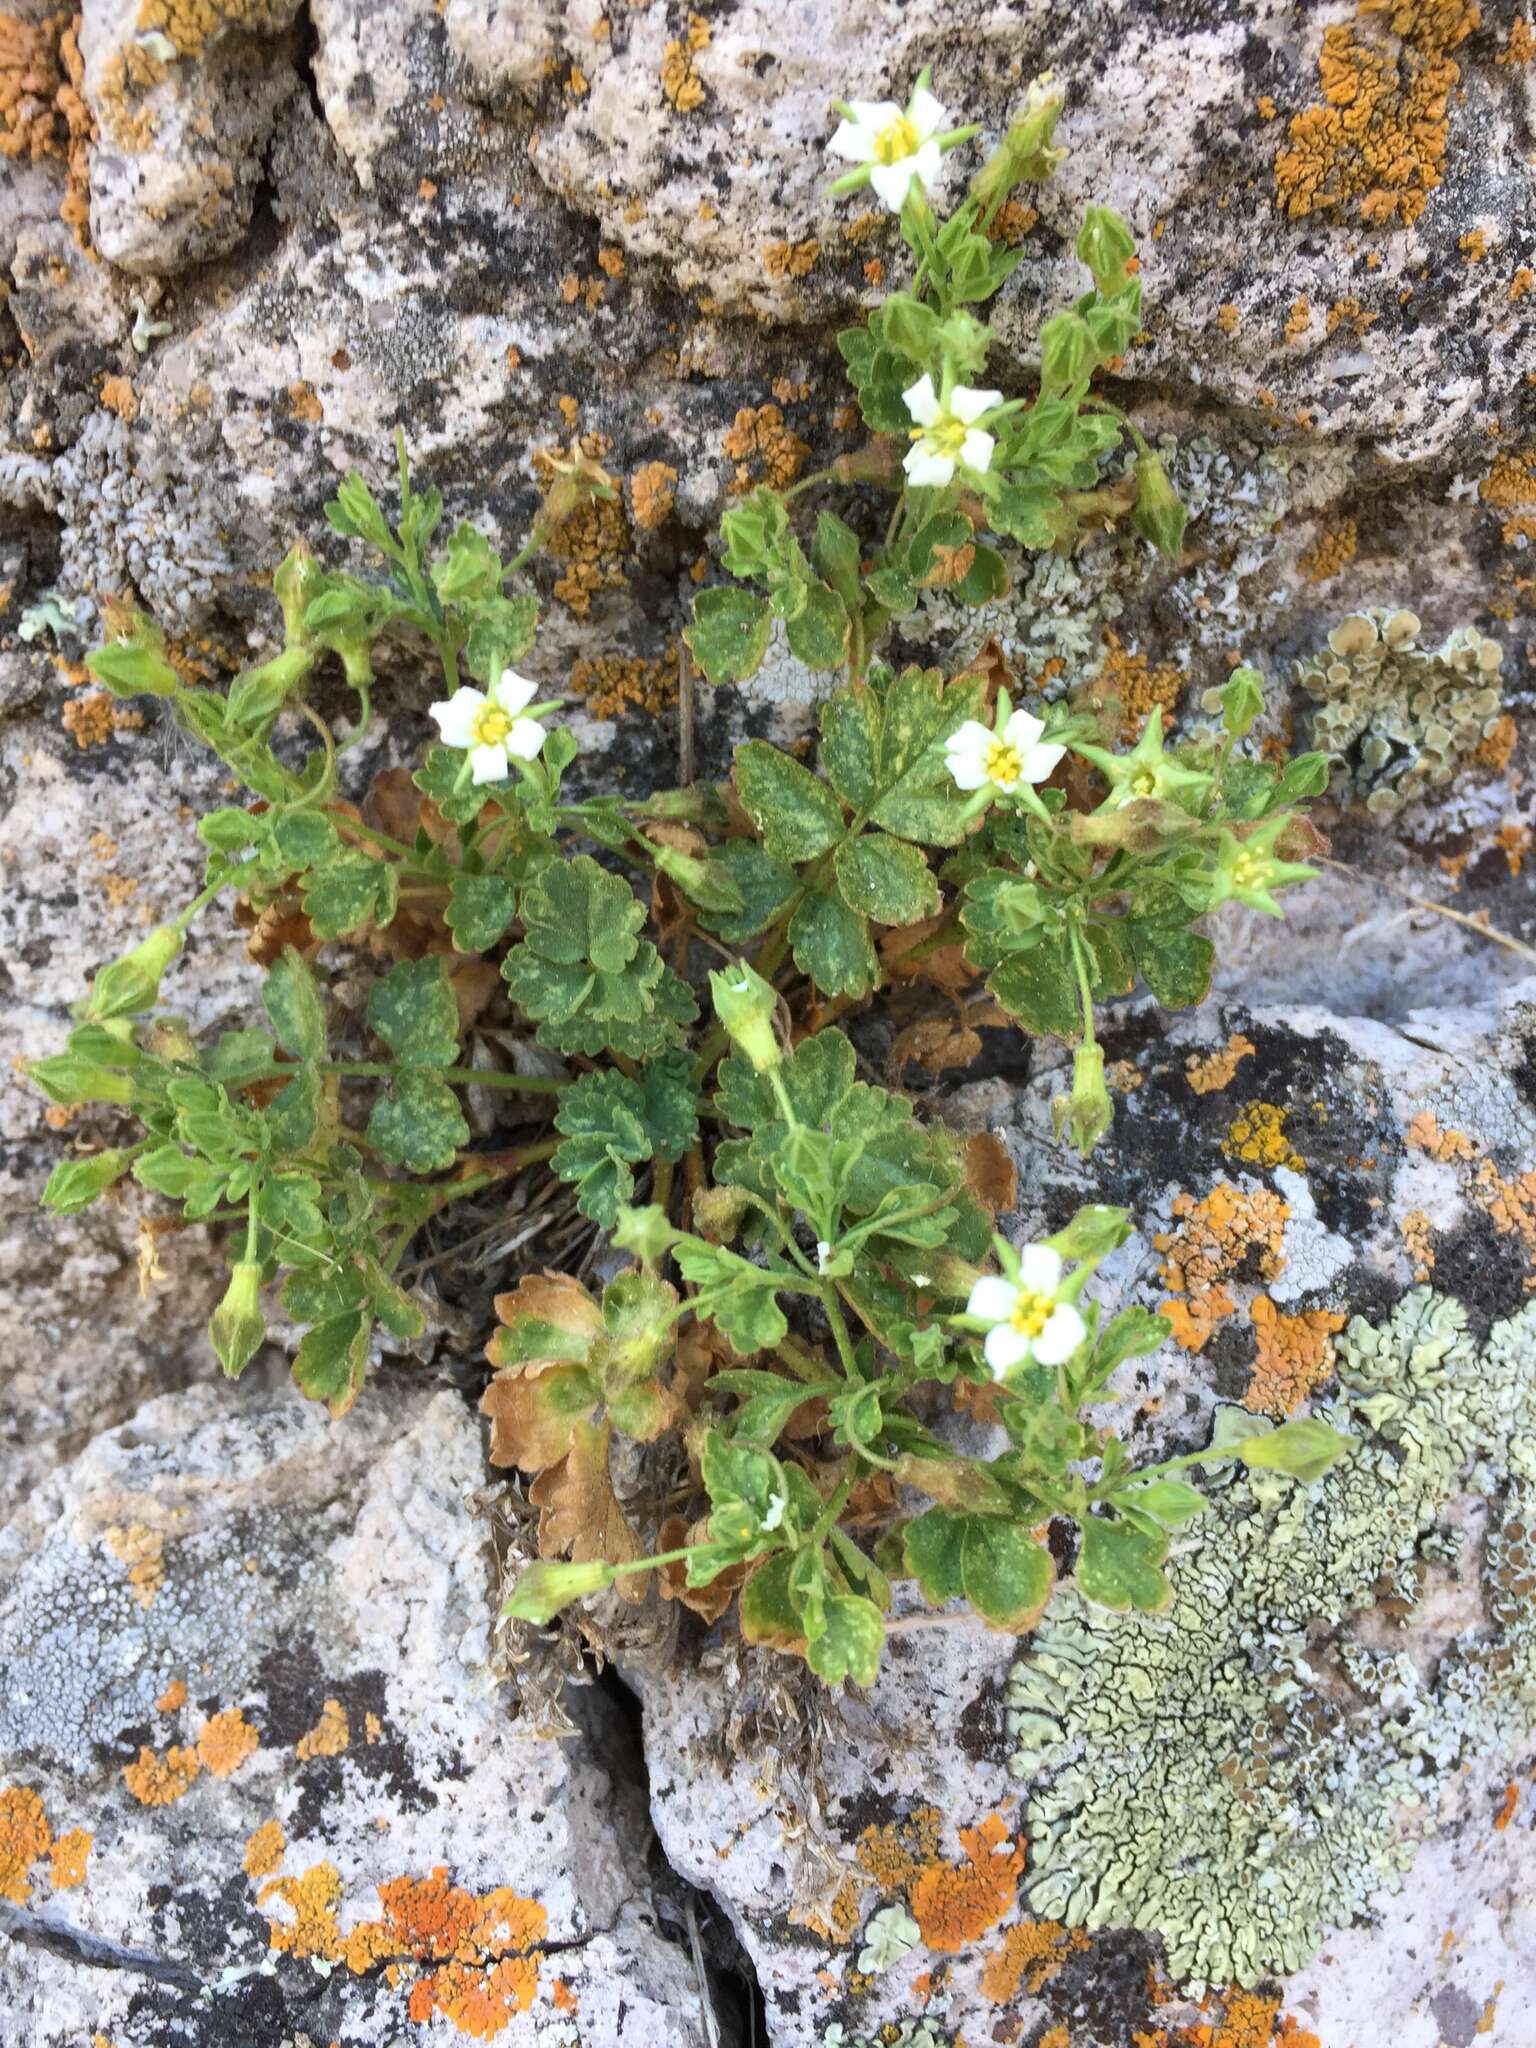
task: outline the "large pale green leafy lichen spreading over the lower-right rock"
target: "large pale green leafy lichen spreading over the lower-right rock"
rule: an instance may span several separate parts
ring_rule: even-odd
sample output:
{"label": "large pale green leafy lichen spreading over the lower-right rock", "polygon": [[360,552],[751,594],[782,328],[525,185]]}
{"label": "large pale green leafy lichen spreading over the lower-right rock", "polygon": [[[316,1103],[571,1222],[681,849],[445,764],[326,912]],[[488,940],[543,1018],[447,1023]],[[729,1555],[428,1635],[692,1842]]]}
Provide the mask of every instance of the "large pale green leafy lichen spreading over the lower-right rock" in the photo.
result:
{"label": "large pale green leafy lichen spreading over the lower-right rock", "polygon": [[[1296,1970],[1397,1882],[1417,1808],[1536,1726],[1536,1303],[1477,1346],[1419,1288],[1339,1339],[1319,1413],[1358,1442],[1313,1487],[1233,1479],[1171,1567],[1161,1616],[1063,1595],[1010,1681],[1030,1907],[1159,1933],[1180,1980]],[[1460,1495],[1487,1499],[1483,1612],[1434,1677],[1335,1634],[1411,1606]],[[1376,1630],[1378,1638],[1378,1630]]]}

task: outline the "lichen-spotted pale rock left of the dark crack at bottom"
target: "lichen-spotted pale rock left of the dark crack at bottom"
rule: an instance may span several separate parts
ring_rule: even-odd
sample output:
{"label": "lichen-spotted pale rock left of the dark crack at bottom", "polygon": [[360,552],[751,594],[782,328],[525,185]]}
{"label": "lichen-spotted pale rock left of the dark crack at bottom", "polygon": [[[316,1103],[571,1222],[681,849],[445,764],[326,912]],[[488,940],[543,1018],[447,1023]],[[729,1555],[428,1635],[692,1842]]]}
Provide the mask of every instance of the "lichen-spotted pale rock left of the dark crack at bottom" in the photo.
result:
{"label": "lichen-spotted pale rock left of the dark crack at bottom", "polygon": [[8,2042],[436,2013],[702,2048],[612,1731],[522,1733],[485,1679],[481,1477],[463,1401],[393,1380],[344,1425],[166,1395],[33,1493],[0,1538]]}

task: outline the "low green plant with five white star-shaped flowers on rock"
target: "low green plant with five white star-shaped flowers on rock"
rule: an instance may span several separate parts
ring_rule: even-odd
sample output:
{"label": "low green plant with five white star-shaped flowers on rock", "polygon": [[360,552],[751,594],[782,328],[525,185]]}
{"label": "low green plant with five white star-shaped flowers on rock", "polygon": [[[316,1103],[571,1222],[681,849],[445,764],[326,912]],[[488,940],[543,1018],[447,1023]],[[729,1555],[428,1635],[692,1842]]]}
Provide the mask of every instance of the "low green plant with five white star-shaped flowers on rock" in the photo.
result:
{"label": "low green plant with five white star-shaped flowers on rock", "polygon": [[[844,336],[877,438],[834,467],[893,492],[885,539],[866,555],[821,512],[807,561],[786,498],[758,494],[725,520],[725,563],[768,596],[705,592],[690,627],[717,680],[750,672],[772,618],[803,659],[846,666],[815,770],[750,739],[729,784],[567,791],[578,741],[549,723],[559,698],[514,668],[537,598],[508,584],[612,489],[580,449],[508,561],[469,522],[440,539],[442,500],[412,485],[403,444],[393,524],[348,477],[332,528],[383,571],[326,569],[297,545],[274,578],[283,647],[227,690],[184,682],[141,614],[117,616],[90,657],[111,690],[162,698],[252,801],[201,819],[199,897],[96,975],[68,1051],[33,1065],[53,1102],[137,1126],[59,1165],[45,1200],[72,1212],[131,1178],[188,1223],[227,1225],[209,1331],[225,1372],[256,1356],[276,1296],[299,1331],[297,1382],[340,1415],[379,1331],[426,1331],[399,1278],[424,1223],[530,1169],[567,1184],[635,1264],[600,1294],[545,1274],[498,1300],[494,1456],[535,1475],[545,1550],[512,1595],[524,1620],[664,1571],[705,1612],[739,1589],[752,1640],[866,1683],[893,1575],[1028,1628],[1057,1575],[1044,1532],[1069,1522],[1087,1597],[1157,1608],[1169,1532],[1200,1509],[1180,1468],[1245,1458],[1309,1477],[1337,1454],[1321,1425],[1251,1423],[1135,1470],[1090,1409],[1167,1325],[1141,1309],[1104,1319],[1083,1292],[1124,1214],[1087,1206],[1016,1251],[985,1198],[999,1200],[997,1163],[977,1180],[942,1124],[860,1073],[836,1024],[901,977],[928,993],[938,1036],[965,1044],[956,991],[985,977],[987,1018],[1001,1006],[1077,1042],[1057,1110],[1087,1151],[1112,1116],[1096,1004],[1137,975],[1165,1004],[1198,1001],[1198,920],[1227,899],[1278,913],[1274,891],[1311,872],[1296,805],[1325,762],[1243,752],[1253,670],[1219,692],[1217,729],[1169,748],[1153,715],[1122,752],[1092,711],[1016,707],[997,664],[944,678],[874,659],[920,588],[1001,594],[983,532],[1071,547],[1083,522],[1124,512],[1180,541],[1155,457],[1090,395],[1139,324],[1114,215],[1090,213],[1094,293],[1047,322],[1038,393],[963,383],[989,344],[967,305],[1014,260],[987,223],[1051,168],[1057,113],[1034,88],[944,225],[926,188],[971,131],[944,131],[926,82],[905,113],[848,109],[834,139],[862,154],[852,176],[899,207],[918,258],[911,291]],[[920,428],[901,463],[885,436],[907,418]],[[1106,483],[1122,430],[1135,467]],[[410,635],[442,670],[442,743],[358,807],[342,758],[369,727],[379,641]],[[317,702],[336,672],[354,694],[344,729]],[[264,967],[266,1024],[199,1038],[160,985],[219,897]],[[469,1090],[502,1092],[539,1135],[477,1143]],[[954,1401],[1001,1425],[999,1456],[940,1434]],[[647,1552],[610,1454],[614,1436],[668,1434],[688,1450],[694,1511],[653,1511],[662,1548]]]}

